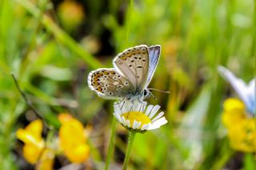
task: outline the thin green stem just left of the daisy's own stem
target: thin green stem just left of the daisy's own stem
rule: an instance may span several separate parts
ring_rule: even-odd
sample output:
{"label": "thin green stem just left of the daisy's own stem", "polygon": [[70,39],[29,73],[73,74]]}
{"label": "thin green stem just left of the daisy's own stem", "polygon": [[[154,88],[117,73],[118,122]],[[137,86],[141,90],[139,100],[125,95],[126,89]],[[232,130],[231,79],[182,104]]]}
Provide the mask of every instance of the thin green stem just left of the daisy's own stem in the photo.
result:
{"label": "thin green stem just left of the daisy's own stem", "polygon": [[116,118],[113,117],[112,125],[111,125],[111,136],[110,136],[110,144],[106,155],[106,164],[105,164],[105,170],[109,169],[110,165],[110,158],[113,155],[114,152],[114,140],[115,140],[115,132],[116,132]]}

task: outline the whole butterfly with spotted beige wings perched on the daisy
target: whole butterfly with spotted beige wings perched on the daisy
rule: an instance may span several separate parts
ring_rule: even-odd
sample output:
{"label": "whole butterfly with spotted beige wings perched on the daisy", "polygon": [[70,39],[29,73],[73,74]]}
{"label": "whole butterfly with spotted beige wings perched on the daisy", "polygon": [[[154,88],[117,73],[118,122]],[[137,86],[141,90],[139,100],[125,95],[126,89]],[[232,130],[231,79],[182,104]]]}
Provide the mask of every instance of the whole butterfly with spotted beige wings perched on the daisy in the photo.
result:
{"label": "whole butterfly with spotted beige wings perched on the daisy", "polygon": [[147,86],[160,57],[160,45],[137,45],[114,57],[111,69],[96,69],[88,75],[88,85],[105,99],[141,101],[150,96]]}

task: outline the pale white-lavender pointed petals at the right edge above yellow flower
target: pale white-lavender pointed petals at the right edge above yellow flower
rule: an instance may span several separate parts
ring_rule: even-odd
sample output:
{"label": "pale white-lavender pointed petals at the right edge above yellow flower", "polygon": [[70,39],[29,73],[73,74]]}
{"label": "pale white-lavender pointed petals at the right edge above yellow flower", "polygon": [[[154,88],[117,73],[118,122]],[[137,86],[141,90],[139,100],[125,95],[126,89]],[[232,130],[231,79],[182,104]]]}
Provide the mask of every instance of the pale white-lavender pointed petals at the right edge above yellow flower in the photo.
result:
{"label": "pale white-lavender pointed petals at the right edge above yellow flower", "polygon": [[233,86],[234,91],[238,93],[243,103],[246,105],[246,109],[253,115],[256,114],[256,77],[249,82],[248,85],[242,79],[235,77],[234,73],[230,72],[223,66],[218,66],[218,71],[222,74],[227,81]]}

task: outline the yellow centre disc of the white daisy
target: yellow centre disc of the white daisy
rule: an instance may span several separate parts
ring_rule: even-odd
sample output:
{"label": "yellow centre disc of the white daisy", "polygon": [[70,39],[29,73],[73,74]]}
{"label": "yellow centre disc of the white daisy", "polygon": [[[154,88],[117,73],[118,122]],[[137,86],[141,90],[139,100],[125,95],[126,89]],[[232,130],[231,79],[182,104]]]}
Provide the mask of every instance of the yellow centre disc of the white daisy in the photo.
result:
{"label": "yellow centre disc of the white daisy", "polygon": [[[142,125],[146,125],[151,123],[150,117],[146,116],[146,114],[141,112],[129,112],[122,114],[122,117],[125,117],[126,120],[130,121],[130,126],[134,125],[134,121],[142,122]],[[142,128],[142,125],[140,128]]]}

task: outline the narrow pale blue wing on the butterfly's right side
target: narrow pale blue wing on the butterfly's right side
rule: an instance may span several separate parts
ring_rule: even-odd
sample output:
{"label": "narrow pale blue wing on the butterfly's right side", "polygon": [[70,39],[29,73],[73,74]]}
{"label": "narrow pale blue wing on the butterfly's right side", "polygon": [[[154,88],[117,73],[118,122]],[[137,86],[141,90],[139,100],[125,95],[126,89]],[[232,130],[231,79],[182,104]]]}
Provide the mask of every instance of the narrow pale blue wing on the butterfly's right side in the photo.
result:
{"label": "narrow pale blue wing on the butterfly's right side", "polygon": [[160,45],[153,45],[149,48],[149,73],[146,80],[146,87],[150,84],[150,81],[152,80],[152,77],[154,76],[155,69],[157,68],[160,52],[161,52],[161,46]]}

